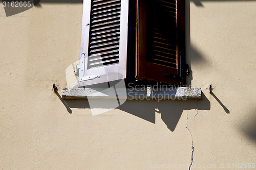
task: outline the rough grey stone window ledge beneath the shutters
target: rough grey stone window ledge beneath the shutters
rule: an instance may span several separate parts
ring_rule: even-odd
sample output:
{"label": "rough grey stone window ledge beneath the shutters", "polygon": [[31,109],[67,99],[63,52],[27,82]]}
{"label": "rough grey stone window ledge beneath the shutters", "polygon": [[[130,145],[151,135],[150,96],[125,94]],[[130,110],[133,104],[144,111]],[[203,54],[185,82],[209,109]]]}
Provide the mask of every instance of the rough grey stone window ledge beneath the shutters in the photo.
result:
{"label": "rough grey stone window ledge beneath the shutters", "polygon": [[[116,92],[115,92],[116,91]],[[117,93],[117,94],[116,94]],[[156,89],[148,87],[147,89],[135,88],[63,88],[63,99],[119,99],[127,100],[188,100],[202,98],[200,87],[178,87],[172,89]]]}

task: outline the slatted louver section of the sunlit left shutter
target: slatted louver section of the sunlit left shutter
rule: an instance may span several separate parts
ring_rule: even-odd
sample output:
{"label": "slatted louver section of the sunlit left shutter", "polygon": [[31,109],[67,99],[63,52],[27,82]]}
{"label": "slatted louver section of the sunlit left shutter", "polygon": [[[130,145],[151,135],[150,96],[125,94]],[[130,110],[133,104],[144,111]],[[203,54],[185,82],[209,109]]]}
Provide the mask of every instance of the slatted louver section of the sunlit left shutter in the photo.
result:
{"label": "slatted louver section of the sunlit left shutter", "polygon": [[[121,0],[93,1],[89,36],[88,69],[118,64]],[[115,8],[115,10],[110,10]],[[106,37],[109,39],[106,40]],[[94,41],[97,39],[97,42]],[[101,56],[102,61],[91,60]]]}

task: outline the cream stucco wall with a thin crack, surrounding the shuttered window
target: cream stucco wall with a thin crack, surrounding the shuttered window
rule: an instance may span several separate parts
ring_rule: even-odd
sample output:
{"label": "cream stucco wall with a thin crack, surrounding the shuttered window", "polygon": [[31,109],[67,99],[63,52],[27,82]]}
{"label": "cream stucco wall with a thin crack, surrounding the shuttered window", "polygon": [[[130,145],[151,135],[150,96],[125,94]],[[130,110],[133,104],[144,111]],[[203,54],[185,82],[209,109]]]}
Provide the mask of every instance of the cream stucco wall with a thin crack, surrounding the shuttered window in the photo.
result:
{"label": "cream stucco wall with a thin crack, surrounding the shuttered window", "polygon": [[92,116],[87,101],[51,89],[67,87],[66,68],[79,59],[82,3],[10,17],[1,5],[0,169],[188,169],[192,146],[192,169],[256,163],[255,9],[256,1],[186,1],[188,83],[202,100],[127,101]]}

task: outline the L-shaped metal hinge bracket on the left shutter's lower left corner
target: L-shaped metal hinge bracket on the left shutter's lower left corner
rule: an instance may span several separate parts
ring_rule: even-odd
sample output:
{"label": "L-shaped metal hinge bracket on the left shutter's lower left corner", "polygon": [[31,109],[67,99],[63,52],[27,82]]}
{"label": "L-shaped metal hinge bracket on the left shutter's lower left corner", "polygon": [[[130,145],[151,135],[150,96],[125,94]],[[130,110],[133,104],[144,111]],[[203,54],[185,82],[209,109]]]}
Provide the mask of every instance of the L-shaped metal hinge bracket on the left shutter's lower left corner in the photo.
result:
{"label": "L-shaped metal hinge bracket on the left shutter's lower left corner", "polygon": [[79,76],[79,82],[100,78],[100,75],[83,76],[85,58],[86,58],[86,53],[82,53],[82,57],[80,58],[81,64],[76,66],[76,75],[79,76],[81,74],[81,76]]}

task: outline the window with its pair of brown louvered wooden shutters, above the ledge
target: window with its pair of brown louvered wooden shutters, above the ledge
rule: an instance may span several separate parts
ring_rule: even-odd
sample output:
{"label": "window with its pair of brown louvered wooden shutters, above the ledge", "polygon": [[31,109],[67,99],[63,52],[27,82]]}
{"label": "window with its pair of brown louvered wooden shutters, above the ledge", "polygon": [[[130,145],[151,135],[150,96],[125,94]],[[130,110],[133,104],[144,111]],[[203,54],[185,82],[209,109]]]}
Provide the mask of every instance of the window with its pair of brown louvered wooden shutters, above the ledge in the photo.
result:
{"label": "window with its pair of brown louvered wooden shutters, above the ledge", "polygon": [[119,79],[185,84],[184,0],[84,0],[79,87]]}

